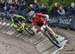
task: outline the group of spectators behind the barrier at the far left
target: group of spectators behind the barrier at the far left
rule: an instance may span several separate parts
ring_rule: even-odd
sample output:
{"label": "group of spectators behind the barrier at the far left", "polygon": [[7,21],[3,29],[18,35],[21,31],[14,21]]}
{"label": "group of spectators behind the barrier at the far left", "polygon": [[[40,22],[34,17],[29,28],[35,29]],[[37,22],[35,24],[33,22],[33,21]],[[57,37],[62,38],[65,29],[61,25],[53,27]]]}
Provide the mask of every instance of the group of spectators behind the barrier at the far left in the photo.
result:
{"label": "group of spectators behind the barrier at the far left", "polygon": [[21,2],[5,2],[2,3],[0,1],[0,12],[5,12],[5,13],[16,13],[16,11],[21,11],[23,12],[25,10],[25,5],[26,3],[24,1]]}

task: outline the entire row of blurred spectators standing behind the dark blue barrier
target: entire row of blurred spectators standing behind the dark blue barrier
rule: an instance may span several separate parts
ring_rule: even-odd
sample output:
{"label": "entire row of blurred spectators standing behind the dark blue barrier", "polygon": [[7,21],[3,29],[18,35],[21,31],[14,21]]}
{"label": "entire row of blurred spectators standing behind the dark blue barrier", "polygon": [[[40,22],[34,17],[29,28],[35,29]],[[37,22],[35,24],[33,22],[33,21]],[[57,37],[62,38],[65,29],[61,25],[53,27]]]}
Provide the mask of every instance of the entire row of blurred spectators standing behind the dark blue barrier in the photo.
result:
{"label": "entire row of blurred spectators standing behind the dark blue barrier", "polygon": [[[25,1],[20,1],[20,2],[6,2],[2,3],[0,1],[0,12],[11,12],[14,13],[17,11],[21,11],[21,14],[25,11],[25,6],[26,2]],[[52,10],[49,12],[48,8],[42,4],[41,6],[39,3],[34,0],[34,3],[29,5],[30,9],[26,10],[27,12],[29,11],[35,11],[41,12],[43,14],[49,14],[51,16],[58,16],[58,15],[74,15],[75,14],[75,4],[74,2],[70,3],[69,5],[60,5],[59,3],[55,3]]]}

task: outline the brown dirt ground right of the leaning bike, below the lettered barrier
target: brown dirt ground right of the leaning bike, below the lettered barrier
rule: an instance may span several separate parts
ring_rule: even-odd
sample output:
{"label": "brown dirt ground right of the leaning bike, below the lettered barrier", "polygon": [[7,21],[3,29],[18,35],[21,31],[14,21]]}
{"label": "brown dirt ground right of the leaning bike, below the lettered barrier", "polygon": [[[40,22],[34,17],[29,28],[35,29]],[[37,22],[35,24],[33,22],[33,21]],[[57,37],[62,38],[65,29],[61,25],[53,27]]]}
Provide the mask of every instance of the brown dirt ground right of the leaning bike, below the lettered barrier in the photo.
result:
{"label": "brown dirt ground right of the leaning bike, below the lettered barrier", "polygon": [[75,54],[75,31],[65,30],[61,28],[53,28],[55,31],[63,34],[68,39],[68,44],[60,52],[60,54]]}

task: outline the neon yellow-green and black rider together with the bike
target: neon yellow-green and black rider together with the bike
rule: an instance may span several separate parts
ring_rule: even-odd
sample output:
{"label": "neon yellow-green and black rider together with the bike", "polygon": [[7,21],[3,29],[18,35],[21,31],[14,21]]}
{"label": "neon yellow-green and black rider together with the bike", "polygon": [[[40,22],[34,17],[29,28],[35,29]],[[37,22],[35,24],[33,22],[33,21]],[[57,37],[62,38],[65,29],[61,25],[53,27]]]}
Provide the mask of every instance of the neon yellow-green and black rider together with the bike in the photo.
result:
{"label": "neon yellow-green and black rider together with the bike", "polygon": [[15,15],[11,18],[12,26],[17,32],[28,32],[30,35],[34,35],[30,25],[26,25],[26,19],[23,16]]}

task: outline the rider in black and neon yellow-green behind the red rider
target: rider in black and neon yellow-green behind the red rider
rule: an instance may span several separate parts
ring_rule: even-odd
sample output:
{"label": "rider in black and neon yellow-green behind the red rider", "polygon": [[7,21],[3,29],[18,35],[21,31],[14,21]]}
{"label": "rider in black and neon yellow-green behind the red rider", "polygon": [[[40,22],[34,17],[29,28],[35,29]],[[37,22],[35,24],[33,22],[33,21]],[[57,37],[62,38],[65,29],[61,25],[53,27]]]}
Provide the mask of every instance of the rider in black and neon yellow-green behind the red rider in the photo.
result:
{"label": "rider in black and neon yellow-green behind the red rider", "polygon": [[25,18],[23,16],[20,15],[14,15],[13,19],[12,19],[12,25],[16,28],[16,30],[18,32],[23,32],[24,30],[24,23],[25,22]]}

